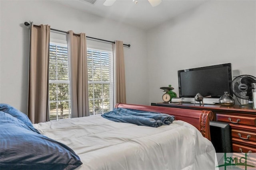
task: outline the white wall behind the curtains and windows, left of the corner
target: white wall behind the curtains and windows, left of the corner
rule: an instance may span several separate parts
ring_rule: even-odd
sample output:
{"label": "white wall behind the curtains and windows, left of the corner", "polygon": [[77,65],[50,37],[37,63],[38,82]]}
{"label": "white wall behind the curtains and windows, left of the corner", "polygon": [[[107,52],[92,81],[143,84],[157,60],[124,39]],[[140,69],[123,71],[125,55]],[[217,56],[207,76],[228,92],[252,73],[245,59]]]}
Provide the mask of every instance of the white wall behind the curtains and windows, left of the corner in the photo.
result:
{"label": "white wall behind the curtains and windows, left of the corner", "polygon": [[[45,13],[44,10],[47,12]],[[106,20],[52,1],[0,0],[0,103],[10,104],[26,113],[28,93],[29,29],[25,21],[49,24],[54,29],[85,32],[87,36],[120,40],[124,47],[127,103],[148,104],[148,63],[146,32]],[[52,38],[65,35],[51,33]],[[88,40],[88,46],[111,44]]]}

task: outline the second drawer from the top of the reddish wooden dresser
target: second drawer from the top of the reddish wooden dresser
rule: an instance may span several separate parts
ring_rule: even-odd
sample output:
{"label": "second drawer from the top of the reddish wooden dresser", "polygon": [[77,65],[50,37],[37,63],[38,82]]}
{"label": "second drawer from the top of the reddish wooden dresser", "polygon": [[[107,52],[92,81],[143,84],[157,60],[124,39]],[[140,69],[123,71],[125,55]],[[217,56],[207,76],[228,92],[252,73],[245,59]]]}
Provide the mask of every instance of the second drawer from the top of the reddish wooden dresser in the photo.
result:
{"label": "second drawer from the top of the reddish wooden dresser", "polygon": [[232,129],[231,134],[233,138],[240,139],[244,142],[256,142],[256,133]]}

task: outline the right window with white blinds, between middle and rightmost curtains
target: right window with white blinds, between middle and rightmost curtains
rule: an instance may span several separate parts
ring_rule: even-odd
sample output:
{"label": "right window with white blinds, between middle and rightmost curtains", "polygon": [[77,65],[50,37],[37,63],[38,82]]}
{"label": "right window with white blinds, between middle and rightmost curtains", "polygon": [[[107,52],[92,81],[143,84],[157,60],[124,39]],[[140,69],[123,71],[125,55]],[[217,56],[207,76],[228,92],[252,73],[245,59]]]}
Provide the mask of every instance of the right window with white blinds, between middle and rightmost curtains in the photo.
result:
{"label": "right window with white blinds, between middle and rightmost curtains", "polygon": [[90,115],[113,109],[112,51],[87,49]]}

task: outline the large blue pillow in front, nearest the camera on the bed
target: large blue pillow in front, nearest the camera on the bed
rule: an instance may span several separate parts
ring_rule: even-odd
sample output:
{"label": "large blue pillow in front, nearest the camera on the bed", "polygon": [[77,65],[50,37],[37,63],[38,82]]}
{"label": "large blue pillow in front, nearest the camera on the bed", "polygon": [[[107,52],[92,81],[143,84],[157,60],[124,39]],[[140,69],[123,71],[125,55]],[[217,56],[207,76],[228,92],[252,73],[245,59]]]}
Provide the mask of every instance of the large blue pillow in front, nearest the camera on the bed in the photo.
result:
{"label": "large blue pillow in front, nearest the camera on the bed", "polygon": [[68,146],[0,111],[0,169],[73,170],[82,162]]}

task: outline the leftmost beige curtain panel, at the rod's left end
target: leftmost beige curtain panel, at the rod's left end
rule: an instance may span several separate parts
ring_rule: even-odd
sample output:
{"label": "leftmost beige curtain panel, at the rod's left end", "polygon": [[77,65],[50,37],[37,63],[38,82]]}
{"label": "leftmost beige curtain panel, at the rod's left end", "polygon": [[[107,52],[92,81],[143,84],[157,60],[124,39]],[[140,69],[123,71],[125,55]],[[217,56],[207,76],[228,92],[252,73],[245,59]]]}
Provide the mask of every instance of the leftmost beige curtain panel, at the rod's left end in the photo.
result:
{"label": "leftmost beige curtain panel, at the rod's left end", "polygon": [[30,23],[28,117],[32,123],[49,121],[49,43],[50,25],[34,27],[33,23]]}

